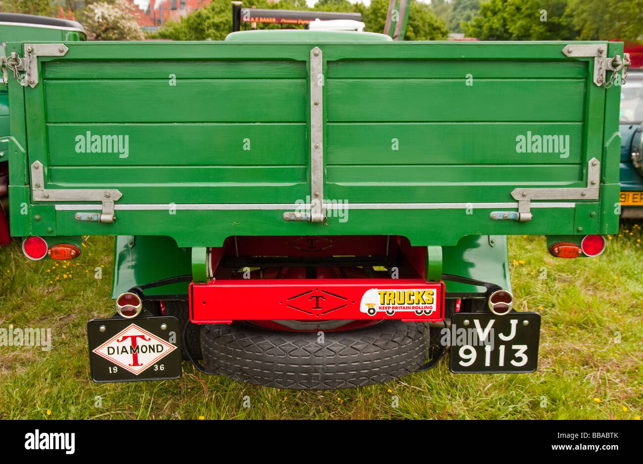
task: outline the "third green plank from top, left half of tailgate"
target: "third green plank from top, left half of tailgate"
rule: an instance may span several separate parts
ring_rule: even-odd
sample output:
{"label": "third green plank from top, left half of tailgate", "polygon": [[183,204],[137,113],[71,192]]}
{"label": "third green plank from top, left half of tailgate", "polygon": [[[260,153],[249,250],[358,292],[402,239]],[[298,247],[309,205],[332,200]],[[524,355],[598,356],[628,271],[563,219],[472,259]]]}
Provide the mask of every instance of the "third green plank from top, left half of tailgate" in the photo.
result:
{"label": "third green plank from top, left half of tailgate", "polygon": [[[77,150],[77,136],[87,140]],[[306,125],[289,124],[49,124],[50,166],[275,166],[305,165]],[[91,135],[128,135],[127,153],[91,153]],[[109,139],[113,142],[113,139]],[[210,146],[203,146],[210,140]],[[101,144],[102,147],[102,144]],[[89,148],[89,150],[87,150]],[[123,150],[124,152],[124,150]],[[180,156],[177,156],[179,155]],[[123,156],[122,156],[123,155]],[[125,156],[127,155],[127,156]],[[104,169],[97,169],[104,171]],[[98,174],[98,172],[96,172]],[[155,176],[156,177],[156,176]]]}

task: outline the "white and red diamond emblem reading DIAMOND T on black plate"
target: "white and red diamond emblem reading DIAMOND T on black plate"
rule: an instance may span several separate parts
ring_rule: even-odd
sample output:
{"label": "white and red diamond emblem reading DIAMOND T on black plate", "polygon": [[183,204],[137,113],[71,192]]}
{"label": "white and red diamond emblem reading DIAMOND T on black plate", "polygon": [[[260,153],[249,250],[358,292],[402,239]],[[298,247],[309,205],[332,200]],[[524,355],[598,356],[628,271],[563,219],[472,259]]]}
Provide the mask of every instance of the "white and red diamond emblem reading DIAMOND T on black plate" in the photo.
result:
{"label": "white and red diamond emblem reading DIAMOND T on black plate", "polygon": [[176,346],[131,324],[93,352],[132,374],[139,375],[175,349]]}

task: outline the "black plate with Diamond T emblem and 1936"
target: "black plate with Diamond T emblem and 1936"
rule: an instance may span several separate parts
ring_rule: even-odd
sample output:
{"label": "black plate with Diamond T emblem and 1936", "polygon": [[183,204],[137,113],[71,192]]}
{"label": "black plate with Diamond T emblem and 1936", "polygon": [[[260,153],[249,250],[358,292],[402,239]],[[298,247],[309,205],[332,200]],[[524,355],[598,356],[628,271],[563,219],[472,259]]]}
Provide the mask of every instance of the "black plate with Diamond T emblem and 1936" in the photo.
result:
{"label": "black plate with Diamond T emblem and 1936", "polygon": [[94,382],[179,378],[181,347],[176,317],[92,319],[87,322]]}

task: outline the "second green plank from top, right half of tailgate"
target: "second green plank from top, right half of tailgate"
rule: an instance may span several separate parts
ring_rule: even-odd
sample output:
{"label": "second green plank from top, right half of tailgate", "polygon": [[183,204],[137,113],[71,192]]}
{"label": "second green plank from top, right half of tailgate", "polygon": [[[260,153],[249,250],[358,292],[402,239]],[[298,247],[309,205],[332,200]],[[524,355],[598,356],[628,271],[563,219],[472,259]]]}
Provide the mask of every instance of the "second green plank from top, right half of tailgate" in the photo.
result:
{"label": "second green plank from top, right half of tailgate", "polygon": [[582,121],[585,85],[559,79],[479,79],[473,86],[464,77],[328,79],[327,116],[332,122]]}

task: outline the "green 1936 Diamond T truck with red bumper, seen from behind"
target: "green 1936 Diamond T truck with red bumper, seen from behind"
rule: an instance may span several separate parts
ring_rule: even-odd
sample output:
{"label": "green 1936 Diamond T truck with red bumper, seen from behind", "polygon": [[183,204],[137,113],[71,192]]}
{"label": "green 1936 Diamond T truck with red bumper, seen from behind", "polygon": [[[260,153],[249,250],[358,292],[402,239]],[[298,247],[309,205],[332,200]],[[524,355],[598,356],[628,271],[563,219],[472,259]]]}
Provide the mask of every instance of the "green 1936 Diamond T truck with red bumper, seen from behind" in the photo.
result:
{"label": "green 1936 Diamond T truck with red bumper, seen from behind", "polygon": [[30,259],[117,236],[96,382],[182,358],[293,389],[446,353],[532,372],[540,316],[514,310],[506,236],[575,258],[617,231],[620,42],[282,30],[7,53],[12,234]]}

